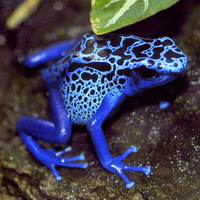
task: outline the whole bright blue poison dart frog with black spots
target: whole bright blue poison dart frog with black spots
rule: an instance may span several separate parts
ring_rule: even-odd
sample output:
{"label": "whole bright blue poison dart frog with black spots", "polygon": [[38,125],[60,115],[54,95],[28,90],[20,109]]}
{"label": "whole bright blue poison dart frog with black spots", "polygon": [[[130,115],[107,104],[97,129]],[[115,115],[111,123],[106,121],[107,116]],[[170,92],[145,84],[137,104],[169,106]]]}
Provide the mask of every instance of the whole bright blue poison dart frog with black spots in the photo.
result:
{"label": "whole bright blue poison dart frog with black spots", "polygon": [[101,125],[127,97],[176,79],[186,69],[186,55],[168,37],[144,39],[89,33],[28,56],[25,65],[34,68],[58,58],[61,59],[57,63],[41,71],[49,92],[51,117],[21,117],[17,123],[20,137],[35,158],[61,180],[55,167],[86,168],[88,163],[73,162],[84,160],[84,155],[63,158],[61,155],[70,148],[61,152],[43,149],[36,139],[63,144],[68,141],[73,124],[86,125],[102,166],[118,174],[126,188],[133,187],[135,183],[124,171],[149,175],[151,167],[123,162],[137,151],[134,146],[120,156],[112,156]]}

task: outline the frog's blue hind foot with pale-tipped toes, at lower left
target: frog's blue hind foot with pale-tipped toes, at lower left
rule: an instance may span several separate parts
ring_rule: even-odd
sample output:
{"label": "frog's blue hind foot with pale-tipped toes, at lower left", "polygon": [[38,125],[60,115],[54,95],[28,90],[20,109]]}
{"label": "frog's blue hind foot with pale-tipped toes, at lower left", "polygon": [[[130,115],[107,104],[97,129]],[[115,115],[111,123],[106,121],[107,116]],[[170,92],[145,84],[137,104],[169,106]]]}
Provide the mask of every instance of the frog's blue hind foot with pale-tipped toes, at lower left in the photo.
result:
{"label": "frog's blue hind foot with pale-tipped toes, at lower left", "polygon": [[55,152],[54,149],[42,149],[40,152],[39,160],[46,165],[51,171],[53,172],[54,176],[56,177],[57,181],[60,181],[62,177],[59,175],[58,171],[56,170],[56,166],[63,166],[63,167],[76,167],[76,168],[87,168],[88,163],[73,163],[73,161],[84,160],[84,154],[80,154],[78,156],[74,156],[71,158],[63,158],[60,157],[62,154],[71,151],[71,147],[66,148],[63,151]]}

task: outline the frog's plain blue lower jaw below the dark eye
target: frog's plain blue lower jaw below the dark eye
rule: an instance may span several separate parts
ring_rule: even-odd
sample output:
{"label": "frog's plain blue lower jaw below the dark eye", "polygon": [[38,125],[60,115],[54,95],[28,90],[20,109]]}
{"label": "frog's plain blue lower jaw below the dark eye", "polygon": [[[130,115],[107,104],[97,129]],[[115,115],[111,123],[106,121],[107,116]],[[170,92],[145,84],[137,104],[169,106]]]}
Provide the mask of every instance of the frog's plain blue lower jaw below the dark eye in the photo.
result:
{"label": "frog's plain blue lower jaw below the dark eye", "polygon": [[143,78],[139,78],[138,84],[137,84],[137,88],[139,90],[146,90],[149,88],[153,88],[153,87],[157,87],[157,86],[162,86],[166,83],[169,83],[173,80],[175,80],[176,78],[178,78],[180,74],[172,74],[172,75],[168,75],[168,74],[163,74],[160,75],[158,77],[155,78],[151,78],[151,79],[143,79]]}

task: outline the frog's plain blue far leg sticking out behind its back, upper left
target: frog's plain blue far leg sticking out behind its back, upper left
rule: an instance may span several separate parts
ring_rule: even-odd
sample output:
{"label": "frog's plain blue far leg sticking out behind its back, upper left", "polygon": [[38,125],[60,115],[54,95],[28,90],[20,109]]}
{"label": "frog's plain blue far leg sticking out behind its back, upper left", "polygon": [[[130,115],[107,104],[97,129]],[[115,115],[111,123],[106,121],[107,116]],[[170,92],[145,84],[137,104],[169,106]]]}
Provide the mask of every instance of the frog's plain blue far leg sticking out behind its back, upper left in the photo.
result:
{"label": "frog's plain blue far leg sticking out behind its back, upper left", "polygon": [[27,67],[34,68],[50,60],[62,58],[69,53],[69,51],[77,44],[79,40],[80,38],[76,40],[60,42],[46,47],[36,54],[27,56],[24,63]]}

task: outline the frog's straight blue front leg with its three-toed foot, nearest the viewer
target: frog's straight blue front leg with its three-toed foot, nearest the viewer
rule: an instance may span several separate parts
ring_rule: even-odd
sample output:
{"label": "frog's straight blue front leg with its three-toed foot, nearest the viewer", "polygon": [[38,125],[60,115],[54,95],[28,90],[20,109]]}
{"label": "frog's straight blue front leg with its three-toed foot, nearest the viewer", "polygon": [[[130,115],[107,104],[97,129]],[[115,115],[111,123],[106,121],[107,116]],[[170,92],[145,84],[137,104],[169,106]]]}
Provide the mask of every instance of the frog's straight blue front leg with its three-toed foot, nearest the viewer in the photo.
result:
{"label": "frog's straight blue front leg with its three-toed foot, nearest the viewer", "polygon": [[87,124],[87,129],[91,133],[95,151],[103,167],[121,176],[126,183],[126,188],[131,188],[134,186],[135,183],[127,178],[127,176],[124,174],[124,171],[140,171],[144,172],[146,175],[149,175],[151,172],[151,167],[129,166],[122,161],[130,153],[137,151],[137,148],[134,146],[131,146],[121,156],[112,157],[108,149],[104,133],[101,128],[101,125],[104,122],[104,120],[109,117],[110,113],[113,113],[113,111],[121,105],[125,98],[125,95],[121,94],[119,91],[108,93],[96,114]]}

